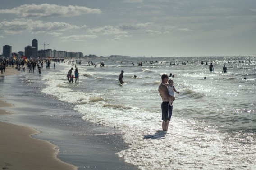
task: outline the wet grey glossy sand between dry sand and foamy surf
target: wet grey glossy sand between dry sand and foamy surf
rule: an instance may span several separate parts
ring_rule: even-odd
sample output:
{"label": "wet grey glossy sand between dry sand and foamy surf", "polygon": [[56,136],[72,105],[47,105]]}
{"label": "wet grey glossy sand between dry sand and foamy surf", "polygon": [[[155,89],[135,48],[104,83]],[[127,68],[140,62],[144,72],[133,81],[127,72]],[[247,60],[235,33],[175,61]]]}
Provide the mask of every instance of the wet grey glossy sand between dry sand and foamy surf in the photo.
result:
{"label": "wet grey glossy sand between dry sand and foamy surf", "polygon": [[[42,74],[48,71],[42,70]],[[58,72],[58,69],[51,71]],[[27,75],[36,79],[36,83],[29,84],[30,88],[24,88],[27,83],[20,81]],[[42,95],[38,92],[38,85],[40,89],[45,85],[38,83],[41,77],[37,76],[26,71],[14,76],[0,76],[0,83],[3,83],[0,101],[14,104],[11,107],[0,107],[14,113],[0,115],[2,122],[40,131],[31,138],[50,141],[49,143],[58,147],[57,161],[76,166],[77,170],[137,170],[137,166],[125,162],[116,154],[129,148],[122,133],[114,128],[83,120],[81,114],[72,109],[73,104]]]}

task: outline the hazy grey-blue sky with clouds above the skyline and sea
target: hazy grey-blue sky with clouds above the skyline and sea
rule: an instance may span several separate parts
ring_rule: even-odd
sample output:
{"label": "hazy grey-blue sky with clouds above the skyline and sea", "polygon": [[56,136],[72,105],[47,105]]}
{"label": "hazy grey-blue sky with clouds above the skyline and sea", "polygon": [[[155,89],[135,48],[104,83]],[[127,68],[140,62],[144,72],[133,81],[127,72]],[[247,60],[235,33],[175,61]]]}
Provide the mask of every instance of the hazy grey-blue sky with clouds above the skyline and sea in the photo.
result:
{"label": "hazy grey-blue sky with clouds above the skyline and sea", "polygon": [[255,56],[256,0],[0,0],[0,46],[33,39],[83,55]]}

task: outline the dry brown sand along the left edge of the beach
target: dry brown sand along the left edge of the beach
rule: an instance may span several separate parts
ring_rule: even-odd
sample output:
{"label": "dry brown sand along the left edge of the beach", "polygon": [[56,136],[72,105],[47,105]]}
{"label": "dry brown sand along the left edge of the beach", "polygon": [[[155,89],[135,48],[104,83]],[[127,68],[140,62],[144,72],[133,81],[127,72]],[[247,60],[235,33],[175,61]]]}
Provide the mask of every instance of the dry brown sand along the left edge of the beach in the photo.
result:
{"label": "dry brown sand along the left edge of the beach", "polygon": [[[7,67],[4,74],[18,74],[14,68]],[[12,107],[0,97],[0,116],[10,114],[3,107]],[[15,113],[14,113],[15,114]],[[57,158],[56,146],[49,141],[35,139],[32,135],[39,131],[25,126],[0,122],[0,169],[9,170],[75,170],[76,166]]]}

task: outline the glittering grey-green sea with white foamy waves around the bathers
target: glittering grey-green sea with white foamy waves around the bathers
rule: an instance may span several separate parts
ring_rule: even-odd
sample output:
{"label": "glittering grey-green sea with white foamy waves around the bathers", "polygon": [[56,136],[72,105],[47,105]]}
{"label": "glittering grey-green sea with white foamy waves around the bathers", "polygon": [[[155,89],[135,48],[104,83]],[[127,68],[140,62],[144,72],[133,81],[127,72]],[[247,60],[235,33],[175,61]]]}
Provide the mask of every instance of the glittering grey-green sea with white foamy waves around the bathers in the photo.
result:
{"label": "glittering grey-green sea with white foamy waves around the bathers", "polygon": [[[227,73],[222,73],[223,65]],[[79,83],[68,82],[71,67],[78,68]],[[123,85],[118,80],[121,70]],[[180,92],[167,132],[161,127],[162,74],[172,74]],[[18,79],[23,89],[33,89],[59,107],[69,106],[64,114],[49,113],[47,118],[70,114],[74,124],[82,120],[114,129],[109,134],[121,135],[127,144],[115,154],[137,169],[256,169],[256,57],[65,59],[55,69],[53,61],[50,69],[44,65],[41,76],[26,70]]]}

